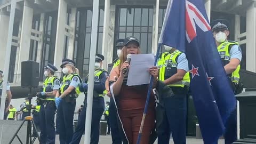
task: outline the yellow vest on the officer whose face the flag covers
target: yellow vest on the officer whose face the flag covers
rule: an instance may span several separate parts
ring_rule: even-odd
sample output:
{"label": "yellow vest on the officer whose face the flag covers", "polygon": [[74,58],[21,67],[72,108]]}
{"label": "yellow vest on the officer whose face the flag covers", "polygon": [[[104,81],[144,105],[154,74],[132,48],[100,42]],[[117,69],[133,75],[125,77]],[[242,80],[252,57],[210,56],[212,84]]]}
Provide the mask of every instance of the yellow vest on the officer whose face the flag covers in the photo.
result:
{"label": "yellow vest on the officer whose face the flag covers", "polygon": [[[173,53],[164,52],[160,55],[157,62],[157,67],[159,69],[159,81],[164,81],[165,79],[177,73],[177,66],[178,66],[177,60],[181,53],[182,52],[176,50]],[[183,77],[182,81],[174,84],[169,84],[168,86],[185,87],[185,85],[189,86],[189,84],[190,84],[190,77],[189,77],[189,72],[187,72]]]}

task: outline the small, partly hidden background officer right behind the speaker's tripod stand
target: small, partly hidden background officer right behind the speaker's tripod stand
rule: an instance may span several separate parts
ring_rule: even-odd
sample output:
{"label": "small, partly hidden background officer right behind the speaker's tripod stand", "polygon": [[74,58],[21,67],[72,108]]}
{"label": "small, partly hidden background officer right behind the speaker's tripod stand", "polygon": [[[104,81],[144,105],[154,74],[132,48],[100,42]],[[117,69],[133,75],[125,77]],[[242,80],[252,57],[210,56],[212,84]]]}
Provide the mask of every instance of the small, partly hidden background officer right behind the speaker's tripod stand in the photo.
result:
{"label": "small, partly hidden background officer right behind the speaker's tripod stand", "polygon": [[[31,107],[33,109],[33,112],[32,112],[32,114],[33,114],[33,121],[35,123],[37,131],[38,131],[39,123],[40,123],[39,122],[39,119],[40,119],[39,118],[40,107],[41,106],[38,106],[37,103],[34,103],[34,105],[32,105],[32,107]],[[33,128],[33,134],[32,134],[33,137],[37,137],[36,129]],[[43,142],[41,142],[41,143],[43,143]]]}

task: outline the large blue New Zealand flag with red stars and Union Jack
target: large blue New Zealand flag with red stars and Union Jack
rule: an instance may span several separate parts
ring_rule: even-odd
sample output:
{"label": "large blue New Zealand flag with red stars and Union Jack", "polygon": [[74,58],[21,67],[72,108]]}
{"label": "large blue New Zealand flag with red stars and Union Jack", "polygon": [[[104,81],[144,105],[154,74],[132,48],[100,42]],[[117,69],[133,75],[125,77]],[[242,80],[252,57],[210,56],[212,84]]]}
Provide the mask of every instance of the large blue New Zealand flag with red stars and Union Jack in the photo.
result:
{"label": "large blue New Zealand flag with red stars and Union Jack", "polygon": [[217,143],[236,100],[202,0],[169,0],[159,43],[186,53],[204,143]]}

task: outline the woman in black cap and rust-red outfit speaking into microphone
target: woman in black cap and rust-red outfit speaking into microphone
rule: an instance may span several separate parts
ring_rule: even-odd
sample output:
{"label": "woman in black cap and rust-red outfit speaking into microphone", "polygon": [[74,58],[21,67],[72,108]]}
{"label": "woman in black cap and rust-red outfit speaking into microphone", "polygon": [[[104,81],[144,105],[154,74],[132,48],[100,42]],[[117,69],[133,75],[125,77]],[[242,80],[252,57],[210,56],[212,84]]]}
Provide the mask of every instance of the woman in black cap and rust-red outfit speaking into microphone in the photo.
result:
{"label": "woman in black cap and rust-red outfit speaking into microphone", "polygon": [[[123,138],[124,143],[136,143],[143,110],[145,108],[148,85],[127,86],[127,68],[129,63],[126,61],[127,54],[140,54],[140,43],[135,37],[127,37],[124,41],[124,47],[120,57],[120,65],[115,67],[109,76],[110,92],[114,99],[118,99],[118,115],[122,122],[124,130]],[[129,70],[128,70],[129,71]],[[158,81],[157,67],[151,67],[149,70],[150,75],[154,76],[153,87],[156,86]],[[155,101],[154,94],[151,92],[148,113],[143,126],[141,144],[149,143],[149,135],[155,124]]]}

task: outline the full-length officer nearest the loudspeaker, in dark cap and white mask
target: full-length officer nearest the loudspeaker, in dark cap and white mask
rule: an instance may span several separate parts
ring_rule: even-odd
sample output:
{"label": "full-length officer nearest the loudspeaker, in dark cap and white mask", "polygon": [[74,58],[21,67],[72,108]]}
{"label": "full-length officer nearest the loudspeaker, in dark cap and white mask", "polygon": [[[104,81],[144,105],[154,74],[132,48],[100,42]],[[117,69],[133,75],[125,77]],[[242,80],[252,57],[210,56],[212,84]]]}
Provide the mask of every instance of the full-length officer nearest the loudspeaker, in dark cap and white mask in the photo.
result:
{"label": "full-length officer nearest the loudspeaker, in dark cap and white mask", "polygon": [[44,76],[46,77],[41,92],[38,93],[39,123],[40,123],[40,139],[41,143],[55,143],[55,95],[60,87],[60,80],[54,76],[58,69],[51,63],[44,68]]}

